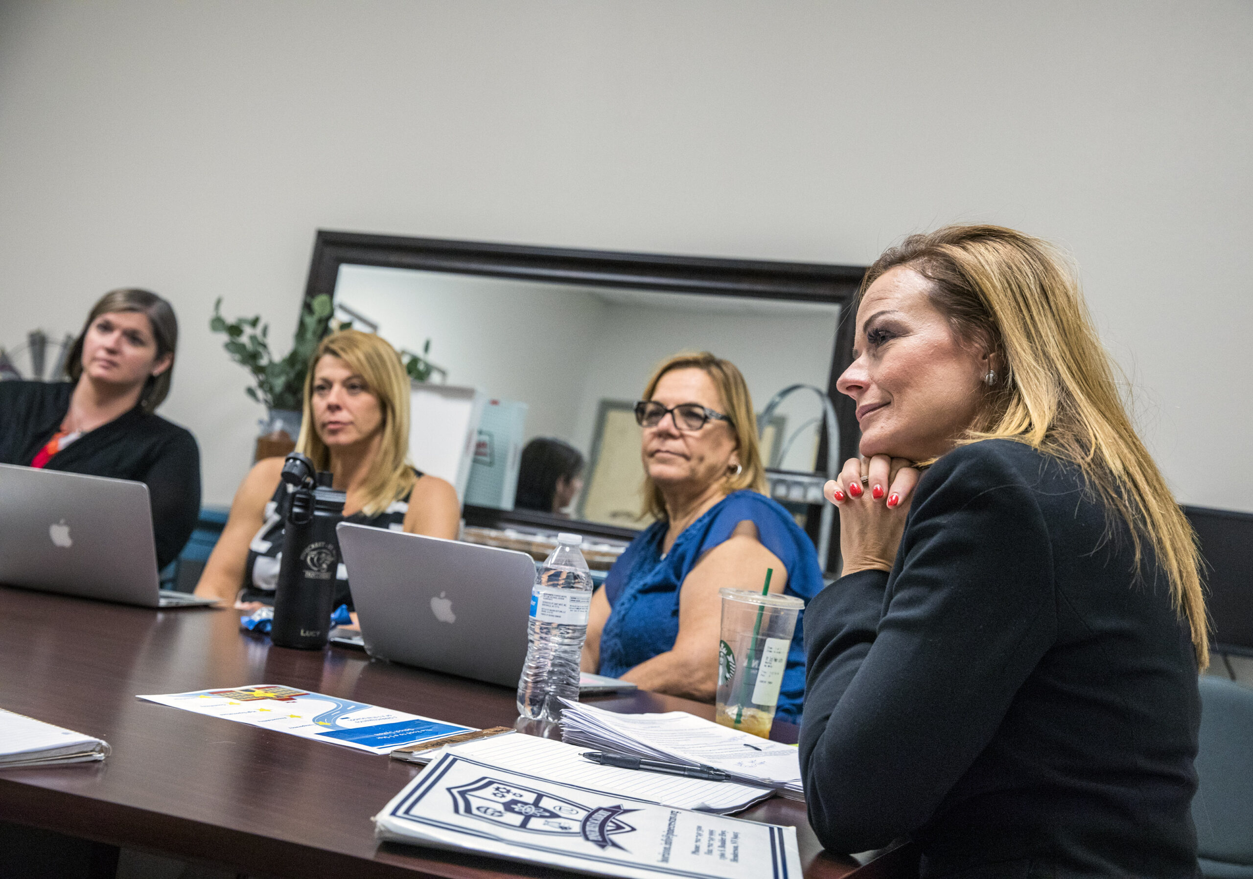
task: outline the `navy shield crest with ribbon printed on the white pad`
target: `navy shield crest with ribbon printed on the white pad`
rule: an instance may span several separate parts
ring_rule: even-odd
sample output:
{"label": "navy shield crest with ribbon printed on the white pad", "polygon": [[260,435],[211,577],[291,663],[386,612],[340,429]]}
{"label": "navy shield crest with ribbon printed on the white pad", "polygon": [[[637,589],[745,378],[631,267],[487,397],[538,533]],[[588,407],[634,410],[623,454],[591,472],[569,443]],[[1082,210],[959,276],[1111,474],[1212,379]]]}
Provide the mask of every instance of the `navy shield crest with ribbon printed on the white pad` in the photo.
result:
{"label": "navy shield crest with ribbon printed on the white pad", "polygon": [[585,806],[571,800],[531,790],[511,781],[480,778],[449,788],[452,806],[460,815],[477,818],[514,830],[555,836],[579,836],[600,848],[623,848],[610,835],[635,830],[619,815],[635,811],[613,806]]}

